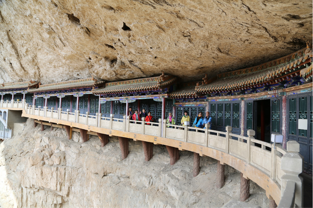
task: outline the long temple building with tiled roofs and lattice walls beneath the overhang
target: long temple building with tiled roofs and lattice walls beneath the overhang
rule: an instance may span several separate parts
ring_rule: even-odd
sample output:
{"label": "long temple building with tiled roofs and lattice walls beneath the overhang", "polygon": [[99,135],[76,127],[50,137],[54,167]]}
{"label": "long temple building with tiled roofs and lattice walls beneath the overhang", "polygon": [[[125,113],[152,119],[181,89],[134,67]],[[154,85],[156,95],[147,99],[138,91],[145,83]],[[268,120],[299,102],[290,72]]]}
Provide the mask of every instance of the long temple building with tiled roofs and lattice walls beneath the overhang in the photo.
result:
{"label": "long temple building with tiled roofs and lattice walls beneath the overhang", "polygon": [[[254,138],[266,143],[271,143],[272,134],[281,134],[284,148],[287,141],[297,141],[304,156],[304,169],[312,173],[311,47],[308,44],[307,48],[258,66],[217,76],[207,74],[200,81],[188,83],[181,83],[169,73],[120,82],[91,77],[44,85],[35,81],[4,83],[0,87],[1,138],[13,135],[8,115],[19,105],[38,108],[39,115],[51,118],[59,110],[73,118],[77,114],[100,116],[102,120],[113,117],[118,121],[135,110],[145,109],[156,123],[163,122],[172,112],[176,125],[181,125],[184,111],[191,123],[199,112],[205,115],[208,111],[211,130],[226,132],[227,126],[231,126],[231,133],[238,136],[248,136],[247,131],[254,130]],[[163,128],[162,125],[161,135]],[[233,139],[238,140],[235,136]],[[264,148],[270,150],[268,146]]]}

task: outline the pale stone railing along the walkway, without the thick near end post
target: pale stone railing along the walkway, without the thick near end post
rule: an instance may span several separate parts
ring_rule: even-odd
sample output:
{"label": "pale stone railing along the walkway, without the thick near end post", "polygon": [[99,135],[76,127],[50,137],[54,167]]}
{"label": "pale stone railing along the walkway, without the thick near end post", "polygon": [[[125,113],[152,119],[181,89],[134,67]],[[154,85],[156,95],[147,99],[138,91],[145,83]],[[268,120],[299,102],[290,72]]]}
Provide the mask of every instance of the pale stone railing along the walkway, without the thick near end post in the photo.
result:
{"label": "pale stone railing along the walkway, without the thick near end post", "polygon": [[[13,106],[19,106],[13,102]],[[10,102],[1,102],[1,105],[10,106]],[[254,139],[255,131],[248,130],[248,136],[241,136],[232,133],[232,127],[227,126],[226,132],[210,130],[208,124],[205,129],[194,128],[189,126],[177,126],[166,123],[159,119],[159,122],[146,122],[142,118],[141,121],[131,120],[131,116],[123,116],[123,119],[114,118],[114,114],[110,117],[103,117],[102,113],[90,115],[89,112],[81,114],[80,111],[74,113],[62,111],[62,108],[55,111],[53,108],[36,108],[28,106],[24,103],[25,113],[37,116],[44,116],[64,121],[77,122],[89,126],[100,128],[139,133],[151,136],[165,137],[178,141],[193,143],[232,155],[246,163],[254,166],[263,173],[267,174],[278,185],[281,185],[281,179],[284,176],[284,171],[281,170],[282,155],[288,152],[280,145],[273,145],[264,141]],[[11,104],[12,106],[12,104]],[[161,126],[163,125],[163,135],[161,135]],[[236,137],[238,139],[232,139]]]}

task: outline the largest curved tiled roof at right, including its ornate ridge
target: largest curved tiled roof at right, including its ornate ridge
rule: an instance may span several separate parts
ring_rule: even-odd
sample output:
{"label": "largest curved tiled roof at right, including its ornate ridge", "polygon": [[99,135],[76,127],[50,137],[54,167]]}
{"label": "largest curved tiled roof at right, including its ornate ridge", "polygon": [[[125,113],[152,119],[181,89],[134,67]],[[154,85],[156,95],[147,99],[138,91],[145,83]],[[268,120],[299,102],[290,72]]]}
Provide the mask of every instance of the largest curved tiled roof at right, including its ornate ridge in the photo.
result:
{"label": "largest curved tiled roof at right, including its ornate ridge", "polygon": [[[311,57],[312,48],[304,48],[288,56],[256,67],[219,74],[218,79],[210,84],[202,82],[202,85],[200,85],[198,83],[195,91],[201,93],[234,91],[240,88],[262,87],[289,80],[293,76],[300,75],[301,67],[307,66],[307,68],[310,68],[308,65],[312,62]],[[309,72],[306,74],[310,74],[310,69],[308,70]],[[303,72],[303,74],[305,73]]]}

